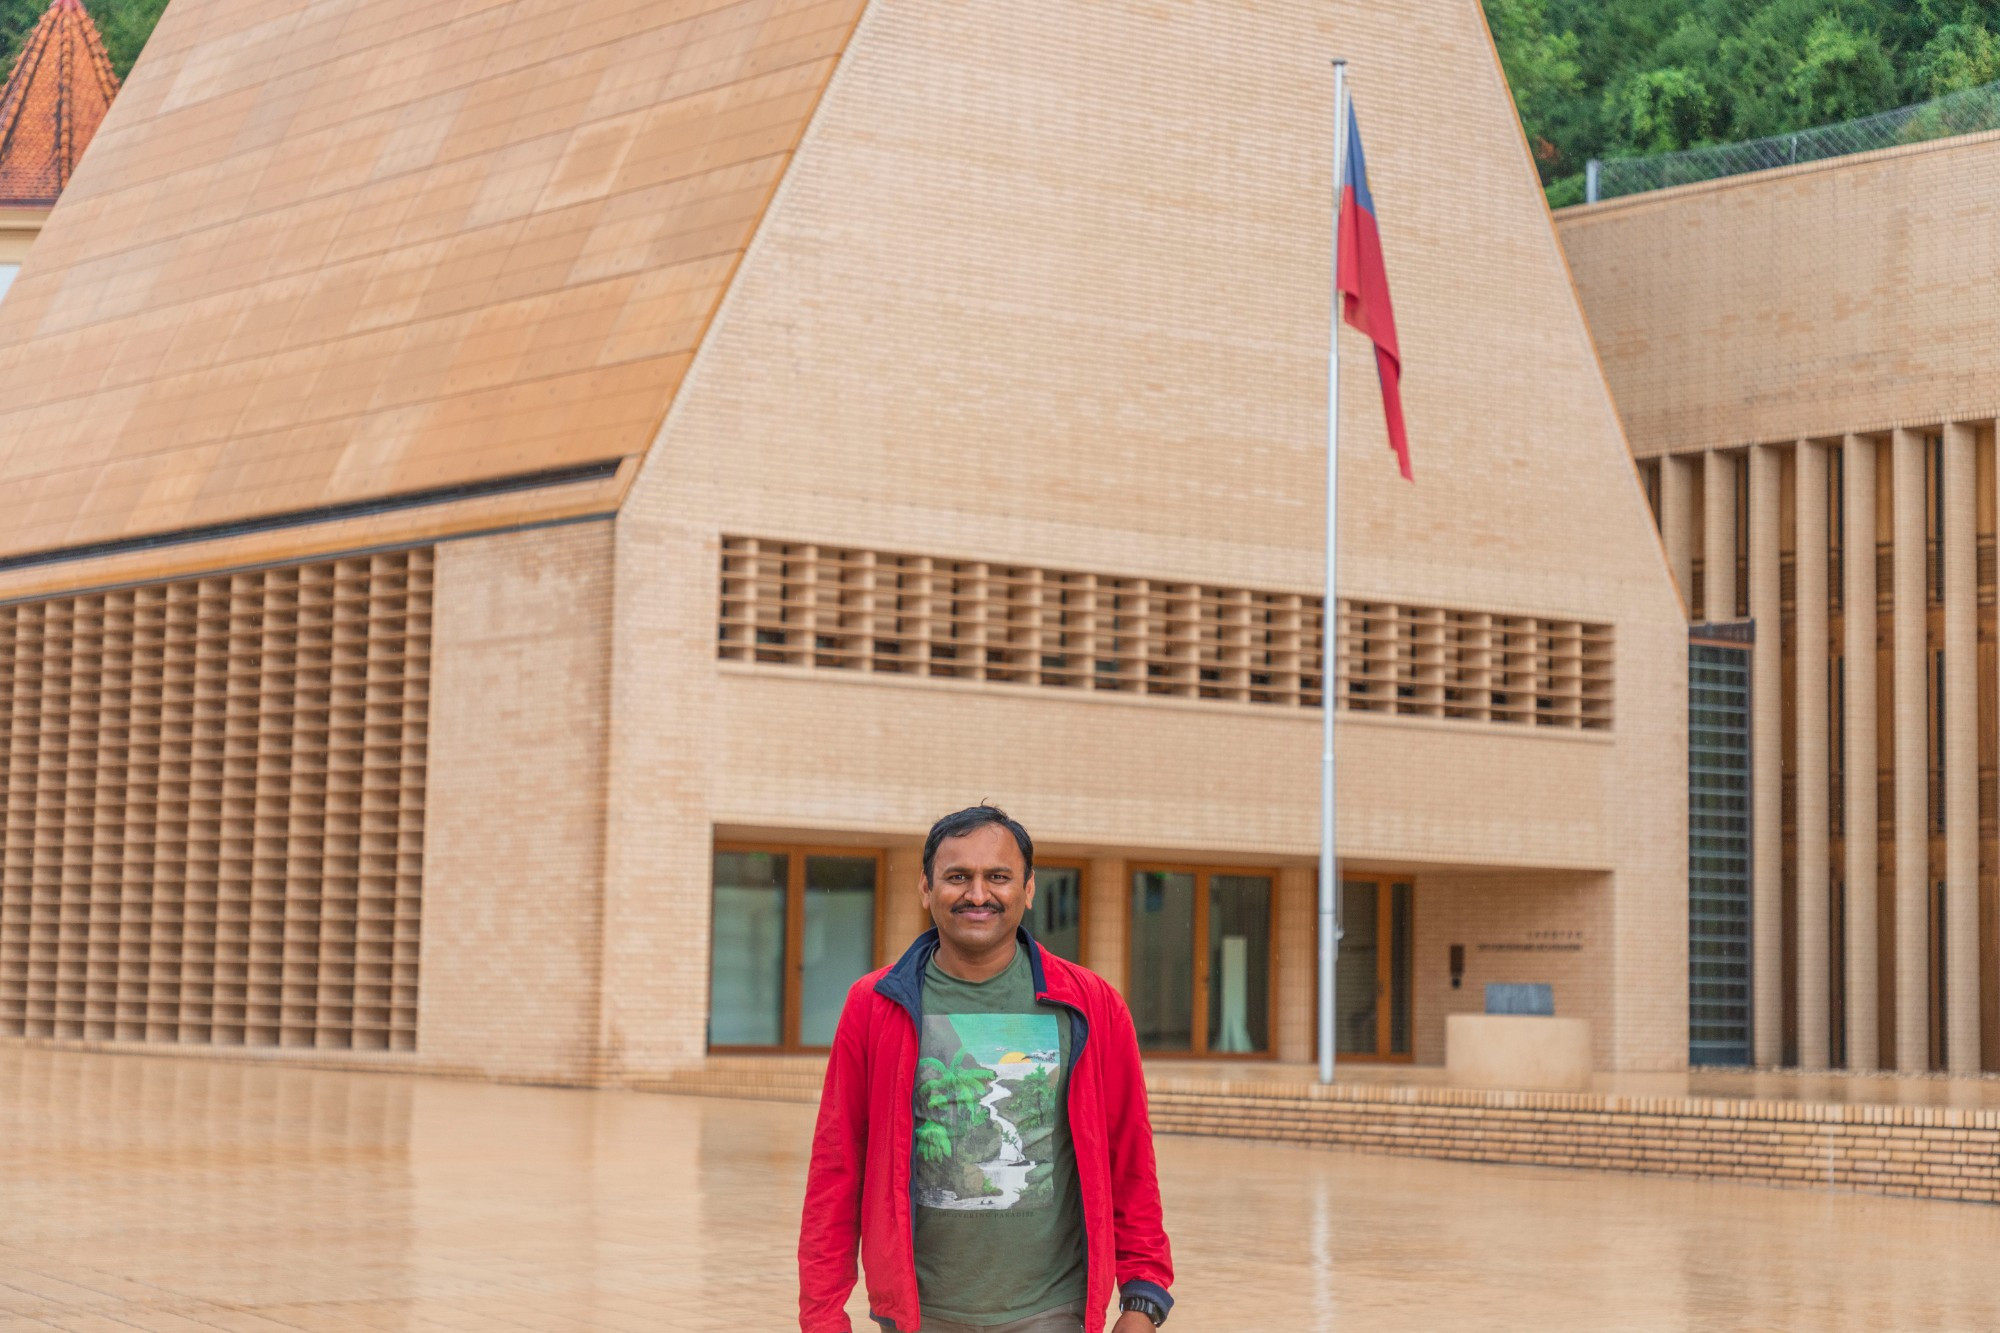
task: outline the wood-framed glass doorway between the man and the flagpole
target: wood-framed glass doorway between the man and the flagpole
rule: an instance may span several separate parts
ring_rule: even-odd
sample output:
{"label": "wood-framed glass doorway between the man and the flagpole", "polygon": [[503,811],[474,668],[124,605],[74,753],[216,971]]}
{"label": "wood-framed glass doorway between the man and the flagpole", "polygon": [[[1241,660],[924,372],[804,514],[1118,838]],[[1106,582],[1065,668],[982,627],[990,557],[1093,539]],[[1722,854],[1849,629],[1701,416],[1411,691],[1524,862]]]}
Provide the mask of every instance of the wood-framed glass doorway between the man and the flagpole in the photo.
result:
{"label": "wood-framed glass doorway between the man and the flagpole", "polygon": [[1270,871],[1132,873],[1128,1001],[1142,1051],[1270,1055]]}

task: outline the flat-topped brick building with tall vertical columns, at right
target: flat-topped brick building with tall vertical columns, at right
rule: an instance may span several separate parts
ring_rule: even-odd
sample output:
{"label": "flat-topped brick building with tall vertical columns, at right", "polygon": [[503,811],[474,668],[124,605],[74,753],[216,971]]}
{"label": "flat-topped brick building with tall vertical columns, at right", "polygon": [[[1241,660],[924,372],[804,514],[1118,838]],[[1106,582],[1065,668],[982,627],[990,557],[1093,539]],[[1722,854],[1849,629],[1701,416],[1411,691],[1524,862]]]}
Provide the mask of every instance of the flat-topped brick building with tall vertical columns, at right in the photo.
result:
{"label": "flat-topped brick building with tall vertical columns, at right", "polygon": [[1558,220],[1692,614],[1758,630],[1766,1065],[2000,1069],[1996,164],[1980,134]]}

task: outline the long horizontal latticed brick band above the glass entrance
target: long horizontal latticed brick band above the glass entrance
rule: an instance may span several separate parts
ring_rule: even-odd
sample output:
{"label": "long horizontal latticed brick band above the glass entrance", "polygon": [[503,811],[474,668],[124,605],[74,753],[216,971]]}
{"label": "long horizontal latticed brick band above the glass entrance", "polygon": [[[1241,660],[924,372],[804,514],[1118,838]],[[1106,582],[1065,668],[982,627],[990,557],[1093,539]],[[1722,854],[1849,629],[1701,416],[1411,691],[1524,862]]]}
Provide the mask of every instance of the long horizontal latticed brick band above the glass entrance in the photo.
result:
{"label": "long horizontal latticed brick band above the glass entrance", "polygon": [[[1322,598],[722,538],[734,662],[1318,709]],[[1612,725],[1612,626],[1342,600],[1354,713]]]}

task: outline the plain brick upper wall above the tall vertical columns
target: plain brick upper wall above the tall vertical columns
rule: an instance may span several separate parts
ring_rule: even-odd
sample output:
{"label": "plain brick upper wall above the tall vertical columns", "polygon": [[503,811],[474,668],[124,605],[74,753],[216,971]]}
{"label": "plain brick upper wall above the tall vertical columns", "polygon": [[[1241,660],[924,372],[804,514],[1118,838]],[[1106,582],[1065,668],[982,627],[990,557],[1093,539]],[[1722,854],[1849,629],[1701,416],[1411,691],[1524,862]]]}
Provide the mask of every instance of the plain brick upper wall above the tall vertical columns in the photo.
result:
{"label": "plain brick upper wall above the tall vertical columns", "polygon": [[2000,414],[2000,136],[1558,214],[1640,456]]}

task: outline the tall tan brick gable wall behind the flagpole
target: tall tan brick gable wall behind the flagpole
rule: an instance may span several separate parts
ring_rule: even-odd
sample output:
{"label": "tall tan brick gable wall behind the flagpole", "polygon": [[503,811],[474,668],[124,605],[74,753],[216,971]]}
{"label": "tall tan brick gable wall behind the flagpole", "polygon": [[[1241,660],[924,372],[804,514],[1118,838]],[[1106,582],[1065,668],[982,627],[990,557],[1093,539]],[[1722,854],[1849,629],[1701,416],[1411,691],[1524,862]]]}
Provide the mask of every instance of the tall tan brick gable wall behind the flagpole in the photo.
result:
{"label": "tall tan brick gable wall behind the flagpole", "polygon": [[[1098,855],[1314,855],[1310,713],[722,669],[714,568],[740,532],[1316,588],[1332,86],[1300,52],[1326,46],[1326,22],[1302,0],[864,14],[620,516],[620,614],[658,610],[620,622],[614,749],[672,755],[682,789],[622,829],[690,849],[704,821],[892,843],[992,797],[1042,843]],[[1608,739],[1344,723],[1342,851],[1598,875],[1604,957],[1630,977],[1606,1059],[1672,1067],[1680,606],[1478,6],[1352,4],[1338,38],[1386,210],[1418,468],[1416,486],[1394,476],[1350,340],[1344,582],[1608,620],[1618,654]],[[688,586],[626,590],[670,578]],[[646,799],[622,777],[612,791]],[[1632,809],[1642,827],[1620,823]],[[646,911],[700,931],[700,855],[630,855],[652,857]],[[1092,887],[1088,949],[1114,975],[1122,879]],[[1296,943],[1280,945],[1294,1009],[1310,1003]],[[682,1023],[664,1003],[682,983],[630,975]],[[1294,1055],[1300,1023],[1278,1021]]]}

